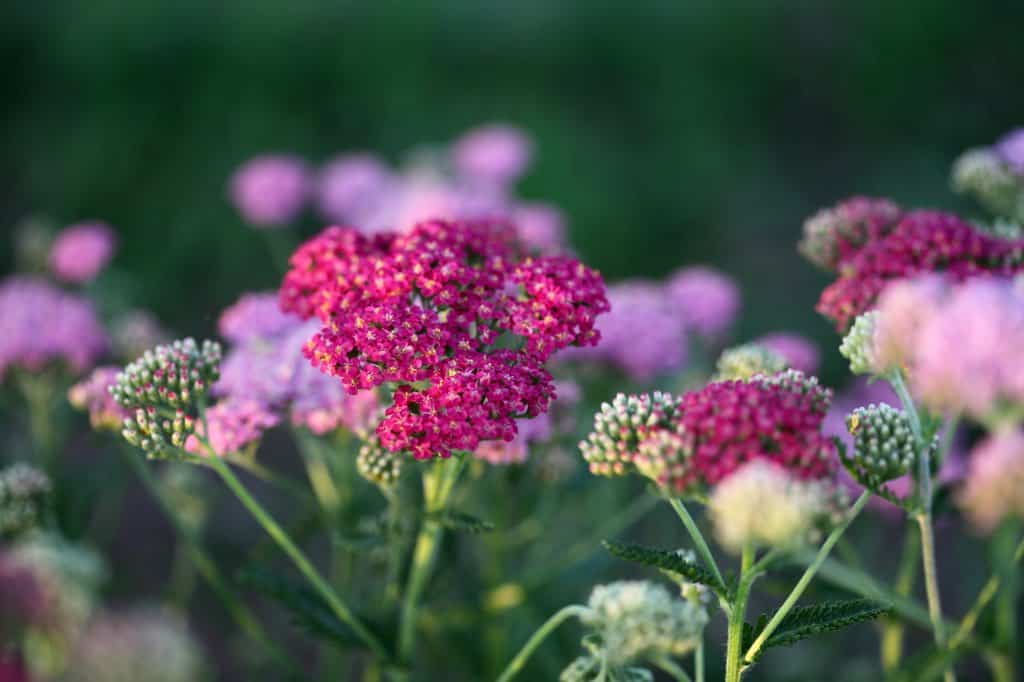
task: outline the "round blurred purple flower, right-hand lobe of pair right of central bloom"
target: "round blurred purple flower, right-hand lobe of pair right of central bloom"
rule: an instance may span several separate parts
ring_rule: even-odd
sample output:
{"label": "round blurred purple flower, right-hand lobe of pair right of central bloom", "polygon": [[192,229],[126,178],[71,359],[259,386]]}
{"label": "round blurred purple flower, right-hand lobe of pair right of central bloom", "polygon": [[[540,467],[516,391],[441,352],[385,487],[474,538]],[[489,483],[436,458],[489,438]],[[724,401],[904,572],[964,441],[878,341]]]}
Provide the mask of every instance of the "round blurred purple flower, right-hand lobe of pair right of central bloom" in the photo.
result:
{"label": "round blurred purple flower, right-hand lobe of pair right of central bloom", "polygon": [[739,312],[739,288],[712,267],[676,270],[668,283],[669,298],[686,325],[706,340],[720,339]]}

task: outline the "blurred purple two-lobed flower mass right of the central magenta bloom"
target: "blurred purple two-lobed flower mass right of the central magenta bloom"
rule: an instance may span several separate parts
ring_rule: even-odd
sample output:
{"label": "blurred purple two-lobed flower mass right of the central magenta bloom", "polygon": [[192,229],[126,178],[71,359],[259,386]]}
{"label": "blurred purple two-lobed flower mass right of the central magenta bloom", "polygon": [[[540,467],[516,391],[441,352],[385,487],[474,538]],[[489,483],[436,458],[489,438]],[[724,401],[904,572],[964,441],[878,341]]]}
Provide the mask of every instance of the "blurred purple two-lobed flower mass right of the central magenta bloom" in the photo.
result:
{"label": "blurred purple two-lobed flower mass right of the central magenta bloom", "polygon": [[[686,365],[691,336],[721,341],[739,310],[734,282],[710,267],[684,267],[665,282],[628,280],[608,288],[611,311],[597,324],[600,345],[564,359],[599,361],[648,382]],[[642,332],[642,333],[640,333]]]}

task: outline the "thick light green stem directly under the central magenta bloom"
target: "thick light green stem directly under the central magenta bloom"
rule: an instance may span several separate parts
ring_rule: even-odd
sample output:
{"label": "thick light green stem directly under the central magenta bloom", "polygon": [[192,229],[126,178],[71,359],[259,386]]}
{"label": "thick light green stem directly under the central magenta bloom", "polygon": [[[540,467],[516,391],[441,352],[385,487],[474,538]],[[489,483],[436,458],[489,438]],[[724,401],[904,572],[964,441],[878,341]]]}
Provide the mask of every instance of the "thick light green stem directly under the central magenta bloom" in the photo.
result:
{"label": "thick light green stem directly under the central magenta bloom", "polygon": [[401,603],[398,629],[398,656],[408,664],[416,649],[416,619],[430,573],[433,571],[443,526],[440,515],[447,507],[466,455],[454,455],[423,476],[424,519],[413,548],[413,565]]}

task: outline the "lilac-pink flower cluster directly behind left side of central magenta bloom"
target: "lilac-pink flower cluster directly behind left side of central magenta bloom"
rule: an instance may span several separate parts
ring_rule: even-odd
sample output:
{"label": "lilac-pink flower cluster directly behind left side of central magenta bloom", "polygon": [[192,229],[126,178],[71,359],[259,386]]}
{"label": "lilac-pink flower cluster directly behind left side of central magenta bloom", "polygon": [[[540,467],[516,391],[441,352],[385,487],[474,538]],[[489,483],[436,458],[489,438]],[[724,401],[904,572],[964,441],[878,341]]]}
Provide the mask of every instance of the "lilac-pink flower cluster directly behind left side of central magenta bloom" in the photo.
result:
{"label": "lilac-pink flower cluster directly behind left side of central magenta bloom", "polygon": [[257,400],[317,434],[342,425],[367,428],[377,412],[375,394],[347,395],[336,380],[303,357],[303,346],[319,329],[315,322],[282,312],[274,294],[242,296],[220,316],[220,335],[233,346],[221,364],[213,393]]}

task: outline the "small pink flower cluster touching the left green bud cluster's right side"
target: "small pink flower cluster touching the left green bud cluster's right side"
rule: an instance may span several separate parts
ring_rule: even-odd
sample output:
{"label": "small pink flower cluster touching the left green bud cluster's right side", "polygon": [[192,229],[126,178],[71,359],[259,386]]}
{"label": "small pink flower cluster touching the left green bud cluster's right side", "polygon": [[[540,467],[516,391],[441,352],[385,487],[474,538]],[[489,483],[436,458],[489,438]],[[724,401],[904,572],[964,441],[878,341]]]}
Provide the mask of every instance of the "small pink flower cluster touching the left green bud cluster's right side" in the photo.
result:
{"label": "small pink flower cluster touching the left green bud cluster's right side", "polygon": [[[206,411],[206,425],[196,422],[195,433],[185,440],[184,449],[195,455],[230,455],[244,451],[263,436],[281,419],[257,400],[221,400]],[[206,432],[209,427],[210,432]],[[210,447],[207,449],[206,443]],[[213,452],[209,452],[212,450]]]}

